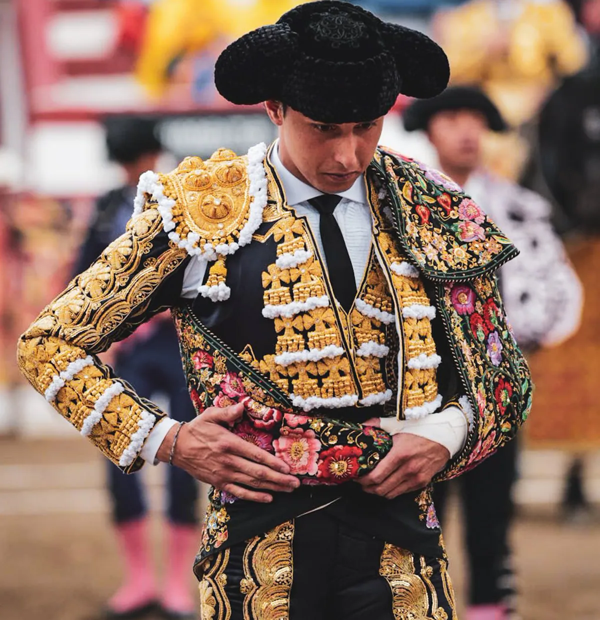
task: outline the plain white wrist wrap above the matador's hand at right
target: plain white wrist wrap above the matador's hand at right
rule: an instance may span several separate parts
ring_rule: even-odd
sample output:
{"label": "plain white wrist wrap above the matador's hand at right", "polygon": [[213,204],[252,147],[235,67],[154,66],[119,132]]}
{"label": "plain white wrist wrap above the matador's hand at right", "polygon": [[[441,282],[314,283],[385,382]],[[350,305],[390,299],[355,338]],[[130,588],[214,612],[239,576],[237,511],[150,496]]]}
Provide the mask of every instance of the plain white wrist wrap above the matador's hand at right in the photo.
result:
{"label": "plain white wrist wrap above the matador's hand at right", "polygon": [[436,441],[448,449],[450,458],[461,451],[469,430],[467,418],[458,407],[447,407],[438,414],[426,415],[417,420],[381,418],[379,427],[390,435],[410,433]]}

